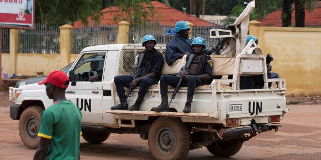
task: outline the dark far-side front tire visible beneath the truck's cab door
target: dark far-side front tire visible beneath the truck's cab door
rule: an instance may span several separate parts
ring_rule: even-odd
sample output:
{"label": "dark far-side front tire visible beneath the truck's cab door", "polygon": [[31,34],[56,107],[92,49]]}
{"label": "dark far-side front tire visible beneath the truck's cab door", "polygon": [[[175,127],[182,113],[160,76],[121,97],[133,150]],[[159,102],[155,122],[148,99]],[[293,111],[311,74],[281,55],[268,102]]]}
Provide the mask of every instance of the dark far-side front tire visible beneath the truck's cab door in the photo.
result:
{"label": "dark far-side front tire visible beneath the truck's cab door", "polygon": [[110,132],[82,130],[82,138],[88,143],[102,143],[107,140]]}

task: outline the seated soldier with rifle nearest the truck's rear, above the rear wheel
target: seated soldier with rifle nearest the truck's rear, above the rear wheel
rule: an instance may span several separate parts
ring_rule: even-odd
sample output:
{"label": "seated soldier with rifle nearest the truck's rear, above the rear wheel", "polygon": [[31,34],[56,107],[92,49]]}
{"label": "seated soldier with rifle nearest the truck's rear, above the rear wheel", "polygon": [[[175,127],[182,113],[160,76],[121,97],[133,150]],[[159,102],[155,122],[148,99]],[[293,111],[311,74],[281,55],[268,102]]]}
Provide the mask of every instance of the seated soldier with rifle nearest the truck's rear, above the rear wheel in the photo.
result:
{"label": "seated soldier with rifle nearest the truck's rear, above the rear wheel", "polygon": [[[203,51],[205,41],[203,38],[196,37],[191,44],[195,57],[189,67],[190,73],[179,71],[179,75],[183,77],[181,86],[187,86],[187,100],[183,112],[190,113],[193,102],[193,95],[195,88],[201,85],[208,85],[209,79],[212,76],[213,62],[210,56],[206,55]],[[161,97],[162,103],[157,107],[153,107],[151,111],[167,112],[168,106],[168,85],[176,87],[180,77],[175,75],[162,75],[161,76]]]}

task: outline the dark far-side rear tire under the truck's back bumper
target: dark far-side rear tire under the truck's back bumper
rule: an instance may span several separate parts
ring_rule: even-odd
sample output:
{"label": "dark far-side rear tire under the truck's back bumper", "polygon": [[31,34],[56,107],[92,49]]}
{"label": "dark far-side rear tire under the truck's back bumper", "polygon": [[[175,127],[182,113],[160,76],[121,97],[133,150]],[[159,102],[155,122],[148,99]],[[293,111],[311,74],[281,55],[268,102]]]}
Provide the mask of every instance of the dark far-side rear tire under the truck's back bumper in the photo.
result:
{"label": "dark far-side rear tire under the truck's back bumper", "polygon": [[[218,145],[218,146],[217,146]],[[239,143],[228,143],[228,142],[218,142],[218,144],[212,143],[210,146],[206,146],[206,148],[215,156],[221,157],[230,157],[239,152],[241,149],[243,142]]]}

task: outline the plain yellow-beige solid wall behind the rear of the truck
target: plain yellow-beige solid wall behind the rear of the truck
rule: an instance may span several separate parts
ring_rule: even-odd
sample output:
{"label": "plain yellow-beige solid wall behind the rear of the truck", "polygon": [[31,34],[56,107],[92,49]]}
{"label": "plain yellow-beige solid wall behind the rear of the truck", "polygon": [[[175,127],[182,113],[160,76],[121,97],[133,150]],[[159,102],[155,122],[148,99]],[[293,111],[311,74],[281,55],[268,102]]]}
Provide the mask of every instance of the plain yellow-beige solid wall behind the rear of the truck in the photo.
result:
{"label": "plain yellow-beige solid wall behind the rear of the truck", "polygon": [[272,71],[285,78],[287,95],[321,95],[321,28],[250,26]]}

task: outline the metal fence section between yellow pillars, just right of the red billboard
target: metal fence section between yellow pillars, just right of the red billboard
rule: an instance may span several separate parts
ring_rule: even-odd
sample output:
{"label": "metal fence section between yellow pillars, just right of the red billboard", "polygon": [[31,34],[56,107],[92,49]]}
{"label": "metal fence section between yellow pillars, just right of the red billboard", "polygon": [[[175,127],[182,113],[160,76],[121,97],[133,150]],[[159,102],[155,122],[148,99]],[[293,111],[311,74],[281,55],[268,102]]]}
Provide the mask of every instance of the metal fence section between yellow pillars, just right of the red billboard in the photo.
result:
{"label": "metal fence section between yellow pillars, just right of the red billboard", "polygon": [[20,30],[18,52],[59,54],[59,28],[36,23],[34,30]]}

